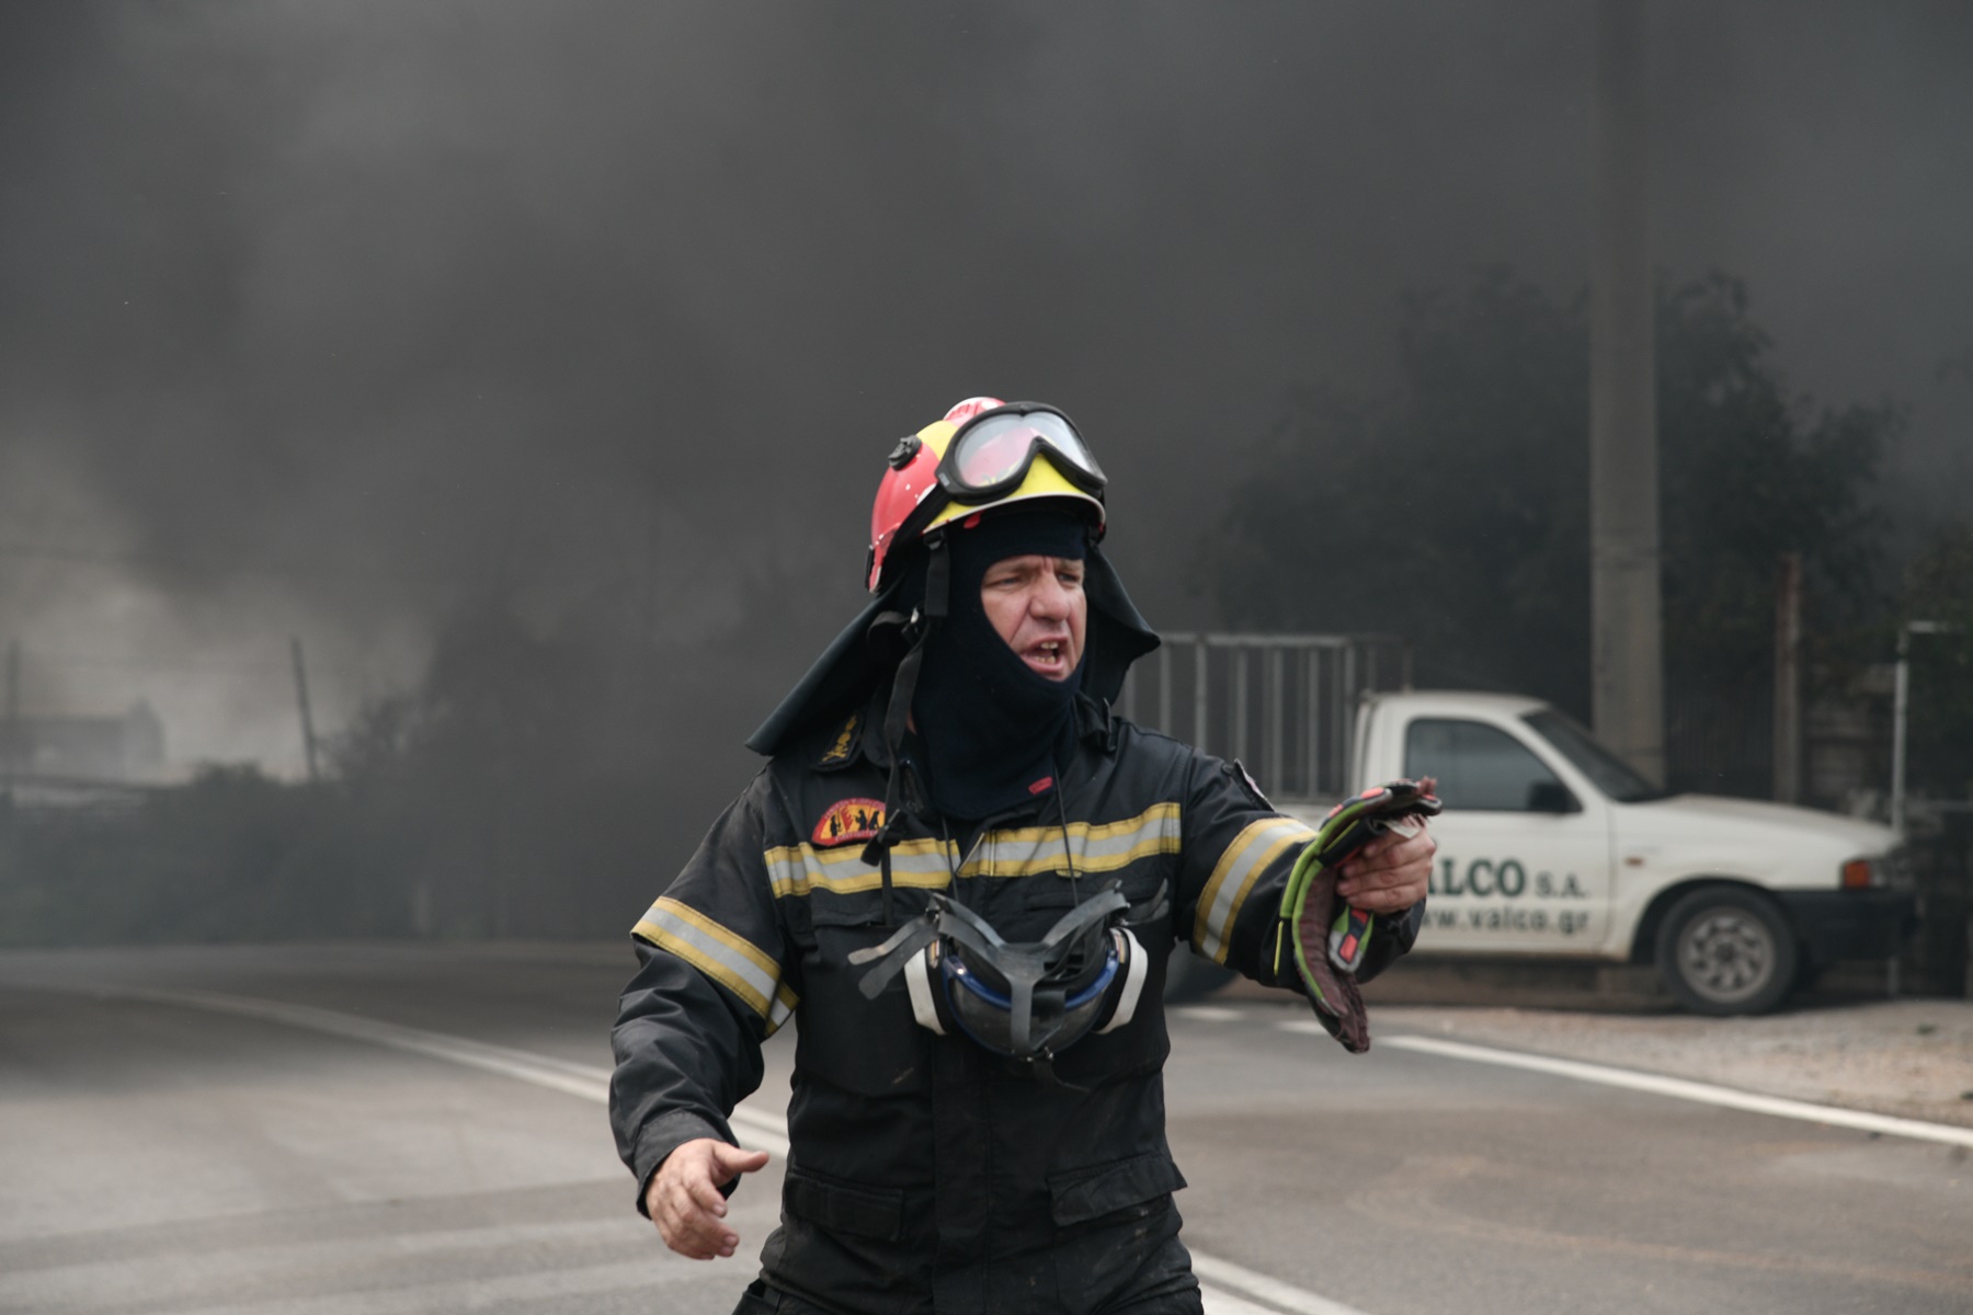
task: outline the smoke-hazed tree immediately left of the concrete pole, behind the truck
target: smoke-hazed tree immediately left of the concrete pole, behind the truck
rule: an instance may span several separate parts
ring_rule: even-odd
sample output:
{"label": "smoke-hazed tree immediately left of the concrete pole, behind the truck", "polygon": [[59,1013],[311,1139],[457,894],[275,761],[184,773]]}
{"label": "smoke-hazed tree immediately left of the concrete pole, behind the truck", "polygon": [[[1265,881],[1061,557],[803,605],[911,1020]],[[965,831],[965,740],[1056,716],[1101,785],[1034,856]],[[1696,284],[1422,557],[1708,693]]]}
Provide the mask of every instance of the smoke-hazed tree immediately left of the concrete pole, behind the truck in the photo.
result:
{"label": "smoke-hazed tree immediately left of the concrete pole, behind the truck", "polygon": [[1397,633],[1423,680],[1580,706],[1586,418],[1580,300],[1505,270],[1460,300],[1413,296],[1397,390],[1296,392],[1202,584],[1237,625]]}

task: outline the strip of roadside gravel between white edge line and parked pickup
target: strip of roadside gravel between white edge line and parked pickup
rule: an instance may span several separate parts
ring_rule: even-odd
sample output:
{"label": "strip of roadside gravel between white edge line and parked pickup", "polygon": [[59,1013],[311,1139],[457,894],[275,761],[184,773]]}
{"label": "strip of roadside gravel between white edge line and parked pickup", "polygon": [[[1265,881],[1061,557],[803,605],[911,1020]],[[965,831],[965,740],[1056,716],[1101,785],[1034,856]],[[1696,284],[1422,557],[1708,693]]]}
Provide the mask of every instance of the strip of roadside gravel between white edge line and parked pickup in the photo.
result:
{"label": "strip of roadside gravel between white edge line and parked pickup", "polygon": [[1371,1027],[1973,1128],[1967,1000],[1831,1004],[1728,1019],[1373,1004]]}

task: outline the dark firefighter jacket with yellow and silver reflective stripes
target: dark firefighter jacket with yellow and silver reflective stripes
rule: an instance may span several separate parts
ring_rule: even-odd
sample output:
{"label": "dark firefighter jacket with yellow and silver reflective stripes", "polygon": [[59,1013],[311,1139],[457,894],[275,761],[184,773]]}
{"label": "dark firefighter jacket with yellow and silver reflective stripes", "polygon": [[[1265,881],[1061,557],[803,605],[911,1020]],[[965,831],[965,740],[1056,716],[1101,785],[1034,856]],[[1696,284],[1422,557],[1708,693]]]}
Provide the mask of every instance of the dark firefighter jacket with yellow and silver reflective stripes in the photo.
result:
{"label": "dark firefighter jacket with yellow and silver reflective stripes", "polygon": [[[762,1080],[762,1041],[793,1017],[793,1149],[762,1252],[767,1287],[856,1313],[1200,1309],[1164,1140],[1164,964],[1184,936],[1292,984],[1292,958],[1279,974],[1273,962],[1277,909],[1312,832],[1237,765],[1091,700],[1079,714],[1061,810],[1044,795],[988,820],[963,856],[937,820],[902,818],[892,921],[957,881],[1002,936],[1036,940],[1121,877],[1150,976],[1131,1023],[1058,1057],[1061,1082],[1085,1090],[919,1027],[902,974],[874,1002],[858,992],[846,956],[888,934],[862,862],[888,767],[866,708],[762,769],[635,927],[643,966],[614,1031],[610,1114],[639,1209],[673,1147],[736,1142],[726,1116]],[[1168,909],[1150,921],[1160,887]],[[1411,948],[1417,925],[1419,911],[1379,919],[1361,976]]]}

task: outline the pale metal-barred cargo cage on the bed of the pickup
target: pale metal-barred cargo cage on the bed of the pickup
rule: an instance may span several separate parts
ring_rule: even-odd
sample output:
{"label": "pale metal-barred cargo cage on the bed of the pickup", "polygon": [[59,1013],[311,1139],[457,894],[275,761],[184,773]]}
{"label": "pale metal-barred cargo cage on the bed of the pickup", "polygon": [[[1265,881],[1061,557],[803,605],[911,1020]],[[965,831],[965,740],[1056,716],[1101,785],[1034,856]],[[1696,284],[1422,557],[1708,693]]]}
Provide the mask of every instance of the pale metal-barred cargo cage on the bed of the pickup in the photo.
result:
{"label": "pale metal-barred cargo cage on the bed of the pickup", "polygon": [[1207,753],[1239,759],[1275,802],[1350,789],[1350,729],[1367,690],[1411,688],[1411,645],[1389,635],[1164,635],[1117,708]]}

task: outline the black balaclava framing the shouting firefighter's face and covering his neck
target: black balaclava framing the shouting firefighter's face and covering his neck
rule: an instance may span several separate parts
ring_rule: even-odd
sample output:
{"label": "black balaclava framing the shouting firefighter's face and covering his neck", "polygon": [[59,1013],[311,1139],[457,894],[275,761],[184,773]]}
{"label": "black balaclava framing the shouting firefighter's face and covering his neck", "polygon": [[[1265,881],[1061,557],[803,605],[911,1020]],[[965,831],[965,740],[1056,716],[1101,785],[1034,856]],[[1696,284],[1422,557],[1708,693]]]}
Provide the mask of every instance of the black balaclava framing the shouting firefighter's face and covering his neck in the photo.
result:
{"label": "black balaclava framing the shouting firefighter's face and covering his neck", "polygon": [[949,615],[925,641],[912,714],[925,745],[931,802],[951,818],[983,820],[1054,789],[1075,733],[1075,694],[1087,666],[1067,680],[1036,674],[1008,647],[981,605],[994,562],[1050,556],[1081,562],[1089,522],[1061,505],[988,513],[947,530]]}

